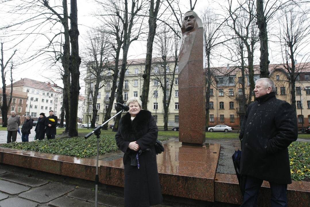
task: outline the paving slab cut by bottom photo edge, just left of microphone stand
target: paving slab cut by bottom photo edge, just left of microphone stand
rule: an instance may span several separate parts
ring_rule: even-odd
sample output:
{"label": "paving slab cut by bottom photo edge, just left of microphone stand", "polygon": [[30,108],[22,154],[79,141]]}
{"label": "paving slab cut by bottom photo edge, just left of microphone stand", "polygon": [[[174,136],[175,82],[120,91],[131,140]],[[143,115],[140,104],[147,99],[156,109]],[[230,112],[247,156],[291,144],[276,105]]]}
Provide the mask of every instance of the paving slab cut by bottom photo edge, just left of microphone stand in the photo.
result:
{"label": "paving slab cut by bottom photo edge, just left of microphone stand", "polygon": [[[76,198],[70,197],[60,197],[55,200],[52,200],[48,203],[48,206],[53,207],[94,207],[94,203],[87,202],[85,200],[79,200]],[[105,207],[106,205],[98,204],[98,207]]]}

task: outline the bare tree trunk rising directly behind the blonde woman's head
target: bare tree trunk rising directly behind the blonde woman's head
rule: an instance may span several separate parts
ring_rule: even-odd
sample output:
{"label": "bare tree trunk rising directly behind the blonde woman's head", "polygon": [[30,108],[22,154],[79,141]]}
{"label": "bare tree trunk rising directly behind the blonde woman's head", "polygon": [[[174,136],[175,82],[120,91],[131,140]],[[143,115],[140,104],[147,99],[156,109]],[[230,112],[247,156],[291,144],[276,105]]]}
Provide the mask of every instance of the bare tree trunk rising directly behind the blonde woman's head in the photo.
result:
{"label": "bare tree trunk rising directly behind the blonde woman's head", "polygon": [[160,9],[161,1],[156,0],[154,7],[154,0],[150,0],[149,17],[148,17],[148,41],[146,44],[146,58],[145,58],[145,68],[143,74],[143,88],[142,88],[142,108],[144,110],[148,109],[148,92],[150,86],[150,73],[152,66],[152,52],[153,52],[153,41],[156,34],[157,28],[157,14]]}

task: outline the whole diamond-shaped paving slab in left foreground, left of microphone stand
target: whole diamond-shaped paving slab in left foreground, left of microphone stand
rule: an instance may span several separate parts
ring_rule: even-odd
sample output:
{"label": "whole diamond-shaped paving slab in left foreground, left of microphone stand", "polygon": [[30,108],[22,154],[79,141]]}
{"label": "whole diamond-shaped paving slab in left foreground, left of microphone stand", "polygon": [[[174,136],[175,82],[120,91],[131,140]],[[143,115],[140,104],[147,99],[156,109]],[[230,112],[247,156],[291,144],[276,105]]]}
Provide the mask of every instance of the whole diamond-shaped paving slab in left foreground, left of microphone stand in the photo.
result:
{"label": "whole diamond-shaped paving slab in left foreground, left of microphone stand", "polygon": [[47,203],[51,200],[54,200],[55,198],[69,193],[72,190],[74,190],[74,187],[72,186],[48,183],[44,186],[21,193],[19,197],[33,200],[38,203]]}

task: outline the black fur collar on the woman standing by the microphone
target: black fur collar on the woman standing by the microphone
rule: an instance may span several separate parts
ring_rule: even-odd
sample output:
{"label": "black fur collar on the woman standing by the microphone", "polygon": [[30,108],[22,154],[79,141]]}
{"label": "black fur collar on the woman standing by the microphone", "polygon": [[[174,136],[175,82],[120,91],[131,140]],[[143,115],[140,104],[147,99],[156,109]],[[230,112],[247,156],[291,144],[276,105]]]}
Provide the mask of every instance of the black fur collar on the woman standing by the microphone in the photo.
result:
{"label": "black fur collar on the woman standing by the microphone", "polygon": [[140,110],[135,119],[131,121],[131,115],[127,112],[121,119],[121,134],[126,141],[136,141],[144,135],[143,129],[148,128],[148,121],[152,113],[148,110]]}

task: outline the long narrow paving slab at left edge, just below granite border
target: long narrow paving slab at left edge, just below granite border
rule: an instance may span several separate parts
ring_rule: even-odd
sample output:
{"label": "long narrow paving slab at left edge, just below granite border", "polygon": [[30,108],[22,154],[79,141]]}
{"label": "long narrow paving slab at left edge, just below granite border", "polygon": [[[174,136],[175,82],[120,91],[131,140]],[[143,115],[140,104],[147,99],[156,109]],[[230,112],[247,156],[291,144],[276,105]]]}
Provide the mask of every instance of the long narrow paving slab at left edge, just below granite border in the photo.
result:
{"label": "long narrow paving slab at left edge, just below granite border", "polygon": [[3,180],[17,182],[19,184],[30,186],[30,187],[39,187],[39,186],[42,186],[48,183],[47,181],[39,180],[38,178],[30,178],[30,177],[16,175],[12,173],[2,174],[0,175],[0,178],[2,178]]}

